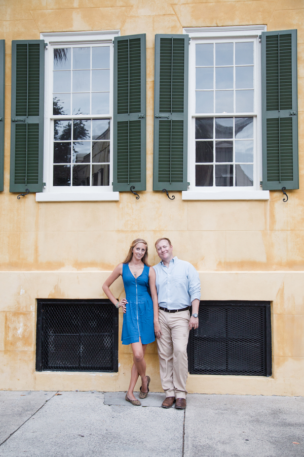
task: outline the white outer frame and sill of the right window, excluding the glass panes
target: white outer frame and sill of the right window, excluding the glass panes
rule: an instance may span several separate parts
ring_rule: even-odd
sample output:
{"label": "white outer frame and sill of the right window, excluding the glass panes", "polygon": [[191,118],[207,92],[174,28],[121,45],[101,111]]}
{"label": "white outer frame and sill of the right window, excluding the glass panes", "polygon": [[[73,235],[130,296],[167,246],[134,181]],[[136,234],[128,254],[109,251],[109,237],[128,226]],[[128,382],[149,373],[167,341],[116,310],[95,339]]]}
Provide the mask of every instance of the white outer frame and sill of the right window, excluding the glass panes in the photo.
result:
{"label": "white outer frame and sill of the right window, excluding the glass panes", "polygon": [[[265,25],[246,25],[232,27],[185,27],[183,33],[189,35],[189,96],[188,96],[188,190],[182,191],[182,200],[269,200],[269,190],[262,190],[262,138],[261,138],[261,46],[259,36],[267,30]],[[254,101],[252,115],[255,124],[254,182],[252,188],[238,187],[196,187],[195,186],[195,45],[220,39],[252,39],[255,47]],[[246,113],[242,113],[246,114]],[[238,113],[234,117],[238,117]],[[214,117],[210,115],[206,117]],[[217,116],[216,117],[225,117]],[[226,117],[232,117],[227,115]]]}

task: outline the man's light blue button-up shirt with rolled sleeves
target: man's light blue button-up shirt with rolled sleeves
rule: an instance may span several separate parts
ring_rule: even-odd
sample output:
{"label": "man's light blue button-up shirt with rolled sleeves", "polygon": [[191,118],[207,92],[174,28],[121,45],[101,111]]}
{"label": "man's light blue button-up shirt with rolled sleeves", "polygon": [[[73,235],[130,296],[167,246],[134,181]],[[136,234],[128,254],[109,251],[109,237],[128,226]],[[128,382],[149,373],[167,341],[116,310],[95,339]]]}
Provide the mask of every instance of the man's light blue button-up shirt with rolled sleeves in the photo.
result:
{"label": "man's light blue button-up shirt with rolled sleeves", "polygon": [[193,265],[173,257],[167,268],[163,262],[155,265],[159,306],[182,309],[201,298],[201,282]]}

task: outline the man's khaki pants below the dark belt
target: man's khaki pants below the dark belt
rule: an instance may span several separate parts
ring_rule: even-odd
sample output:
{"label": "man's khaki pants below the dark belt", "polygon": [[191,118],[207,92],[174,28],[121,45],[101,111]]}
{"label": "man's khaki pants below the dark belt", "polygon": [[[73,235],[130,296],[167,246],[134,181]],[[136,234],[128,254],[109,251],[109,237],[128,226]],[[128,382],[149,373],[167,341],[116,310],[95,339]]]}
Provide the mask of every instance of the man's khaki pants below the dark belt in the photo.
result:
{"label": "man's khaki pants below the dark belt", "polygon": [[157,348],[161,382],[166,397],[186,398],[189,320],[189,311],[167,313],[159,310],[163,335],[160,340],[157,339]]}

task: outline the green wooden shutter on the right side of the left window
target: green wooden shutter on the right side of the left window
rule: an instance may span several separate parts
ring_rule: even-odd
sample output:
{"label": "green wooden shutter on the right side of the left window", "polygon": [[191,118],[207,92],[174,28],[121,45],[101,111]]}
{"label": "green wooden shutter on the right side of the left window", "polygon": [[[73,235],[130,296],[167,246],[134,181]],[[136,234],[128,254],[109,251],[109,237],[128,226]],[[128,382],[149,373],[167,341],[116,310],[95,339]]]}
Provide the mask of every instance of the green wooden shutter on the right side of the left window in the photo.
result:
{"label": "green wooden shutter on the right side of the left window", "polygon": [[145,190],[145,34],[114,39],[113,80],[113,190]]}

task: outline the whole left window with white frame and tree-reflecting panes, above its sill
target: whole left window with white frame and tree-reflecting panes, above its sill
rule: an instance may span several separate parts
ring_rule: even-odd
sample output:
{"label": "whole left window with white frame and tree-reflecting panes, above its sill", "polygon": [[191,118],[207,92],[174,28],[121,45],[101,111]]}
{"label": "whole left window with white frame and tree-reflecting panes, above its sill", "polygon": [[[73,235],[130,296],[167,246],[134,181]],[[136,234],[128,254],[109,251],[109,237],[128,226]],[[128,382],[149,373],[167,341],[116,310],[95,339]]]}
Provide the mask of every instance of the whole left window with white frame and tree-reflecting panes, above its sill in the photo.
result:
{"label": "whole left window with white frame and tree-reflecting panes, above its sill", "polygon": [[[119,30],[44,34],[44,193],[111,198],[113,46]],[[77,128],[76,128],[77,127]],[[58,130],[58,131],[57,131]],[[102,197],[104,195],[104,197]]]}

